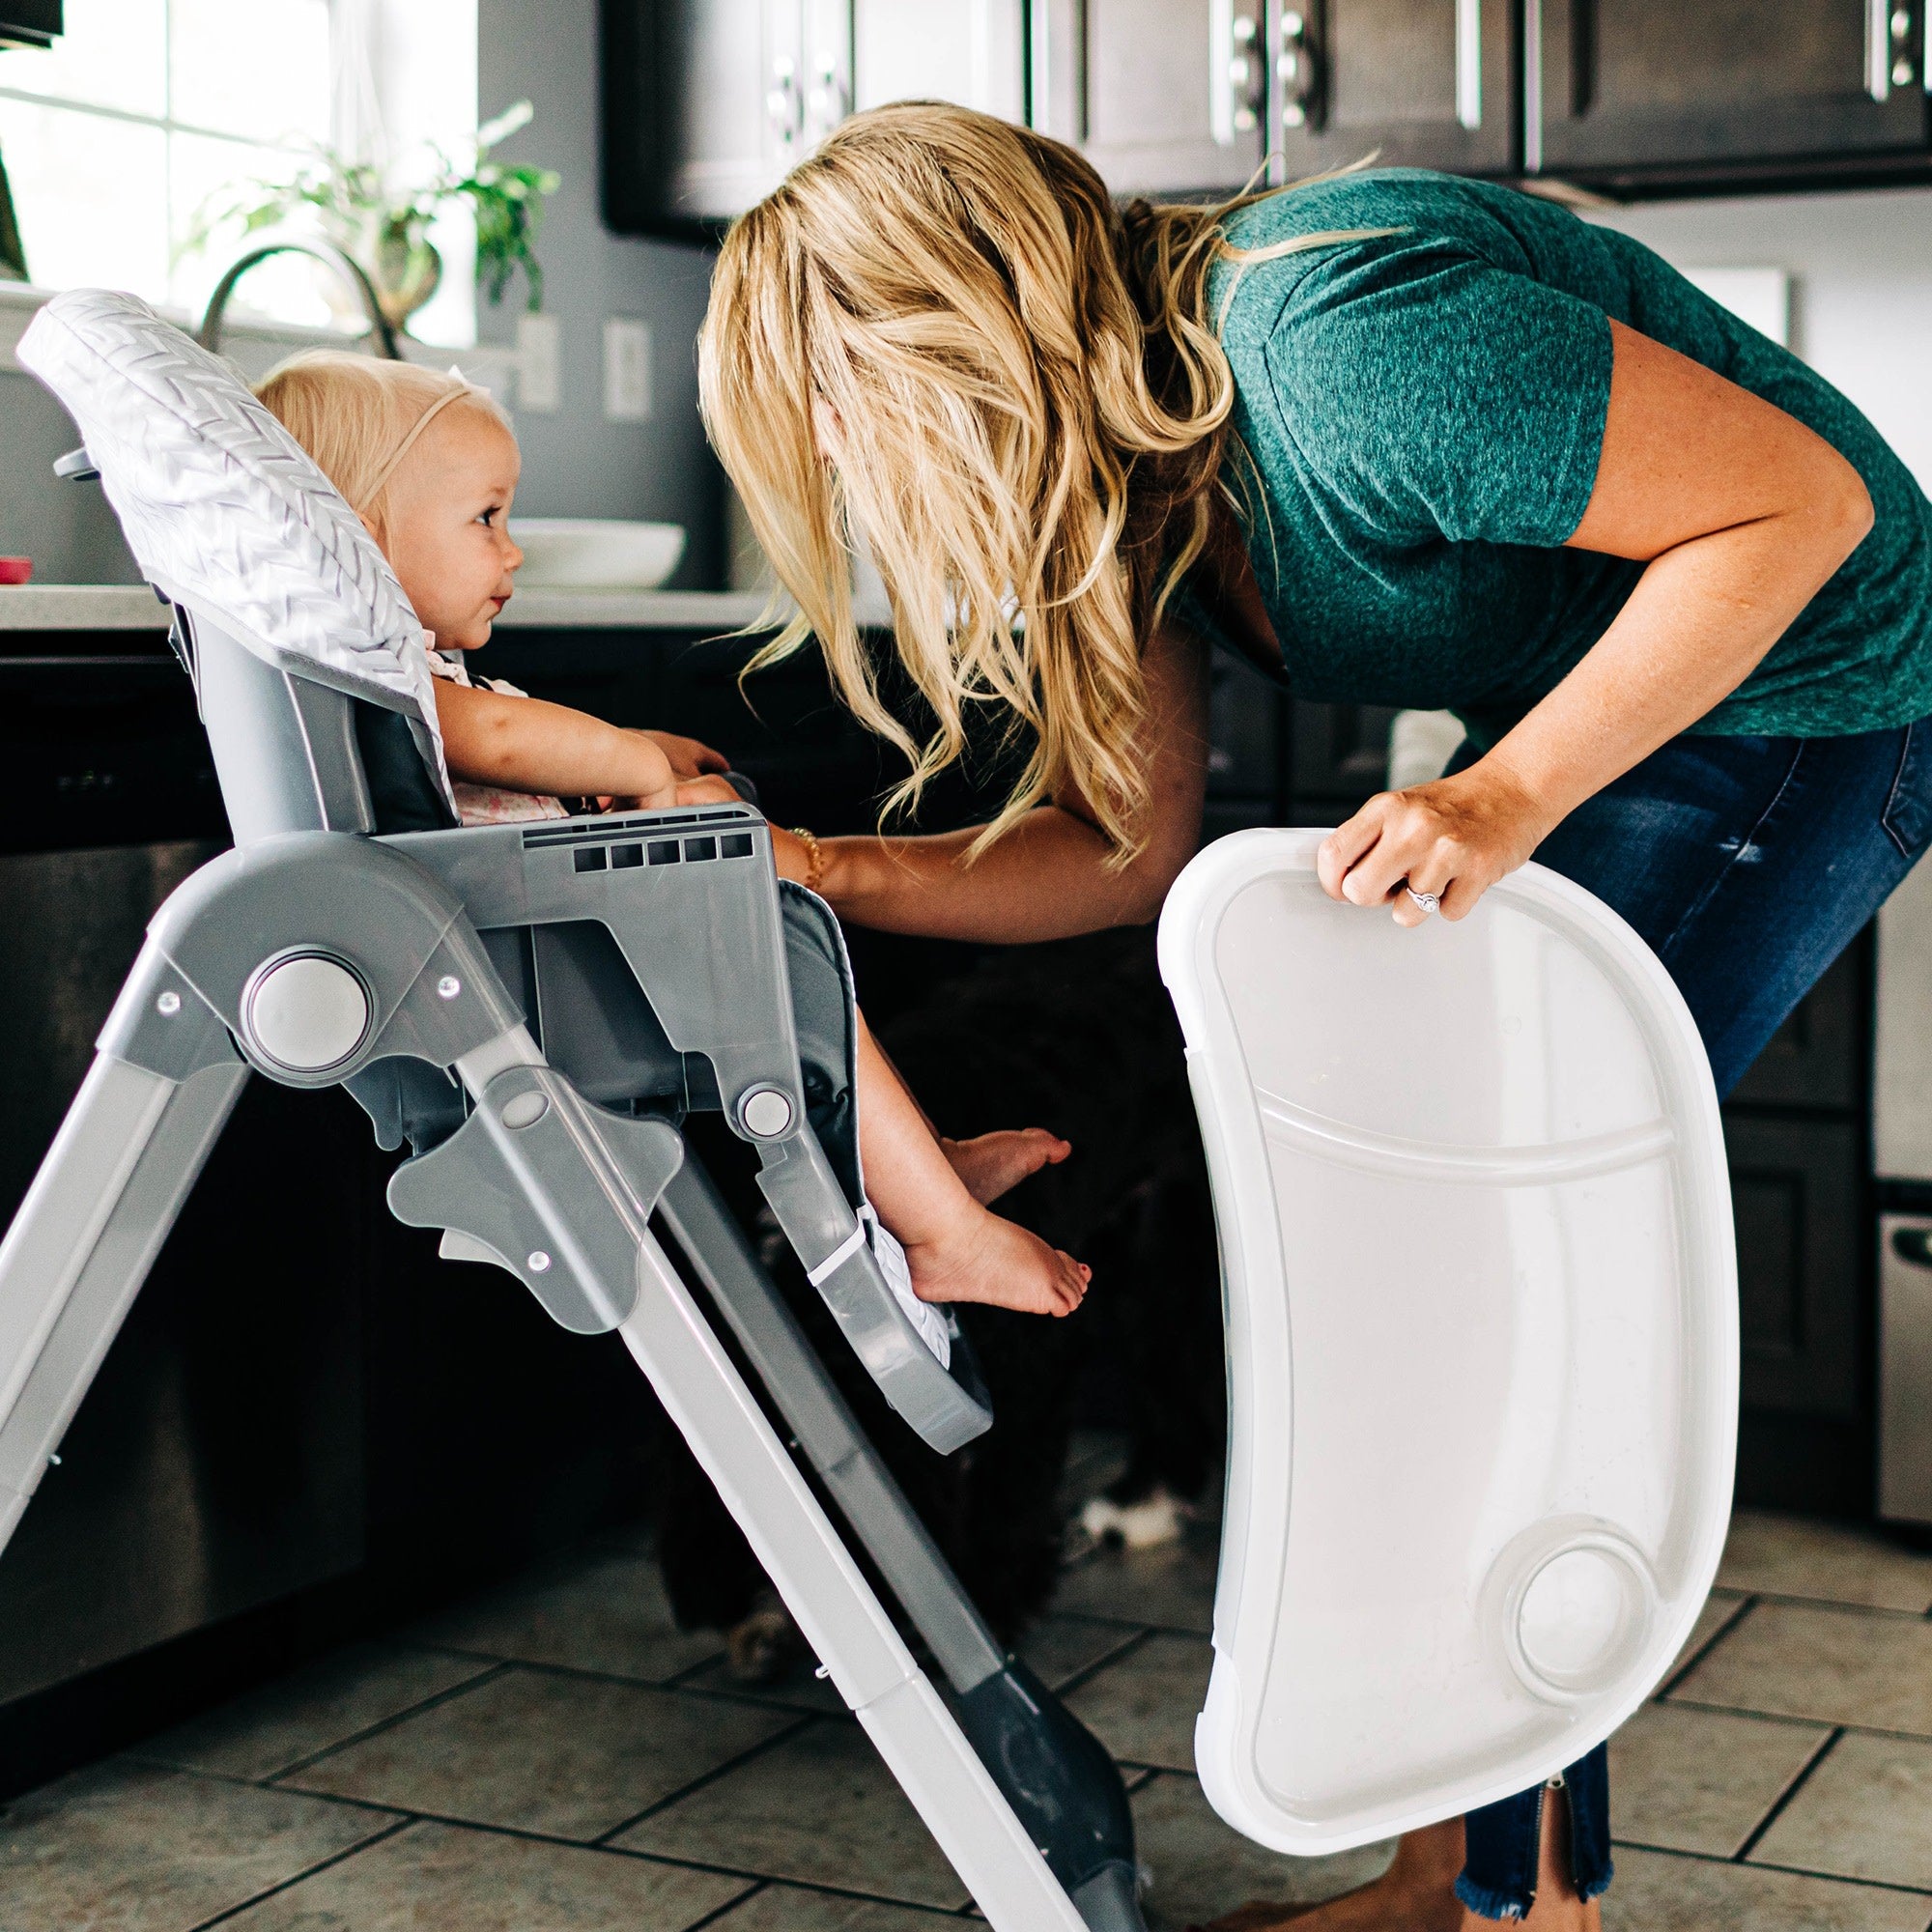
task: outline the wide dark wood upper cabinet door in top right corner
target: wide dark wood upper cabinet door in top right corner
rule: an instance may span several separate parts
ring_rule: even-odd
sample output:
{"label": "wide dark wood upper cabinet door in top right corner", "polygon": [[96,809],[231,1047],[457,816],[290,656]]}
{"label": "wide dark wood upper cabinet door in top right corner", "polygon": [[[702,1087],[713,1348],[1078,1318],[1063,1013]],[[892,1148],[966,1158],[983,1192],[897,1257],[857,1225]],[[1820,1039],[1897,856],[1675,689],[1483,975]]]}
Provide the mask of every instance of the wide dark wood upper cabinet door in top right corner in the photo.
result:
{"label": "wide dark wood upper cabinet door in top right corner", "polygon": [[1524,0],[1526,162],[1609,185],[1924,164],[1924,0]]}

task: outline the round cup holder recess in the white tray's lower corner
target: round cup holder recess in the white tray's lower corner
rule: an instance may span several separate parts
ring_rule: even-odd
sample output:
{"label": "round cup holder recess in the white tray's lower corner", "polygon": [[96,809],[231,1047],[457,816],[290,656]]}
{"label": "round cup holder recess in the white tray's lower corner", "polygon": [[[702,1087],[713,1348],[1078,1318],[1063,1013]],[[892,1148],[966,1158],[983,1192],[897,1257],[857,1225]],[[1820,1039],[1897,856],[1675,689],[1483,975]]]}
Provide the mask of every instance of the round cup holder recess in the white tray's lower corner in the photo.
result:
{"label": "round cup holder recess in the white tray's lower corner", "polygon": [[1551,1517],[1511,1538],[1484,1596],[1509,1667],[1549,1704],[1615,1690],[1642,1663],[1658,1617],[1644,1553],[1592,1517]]}

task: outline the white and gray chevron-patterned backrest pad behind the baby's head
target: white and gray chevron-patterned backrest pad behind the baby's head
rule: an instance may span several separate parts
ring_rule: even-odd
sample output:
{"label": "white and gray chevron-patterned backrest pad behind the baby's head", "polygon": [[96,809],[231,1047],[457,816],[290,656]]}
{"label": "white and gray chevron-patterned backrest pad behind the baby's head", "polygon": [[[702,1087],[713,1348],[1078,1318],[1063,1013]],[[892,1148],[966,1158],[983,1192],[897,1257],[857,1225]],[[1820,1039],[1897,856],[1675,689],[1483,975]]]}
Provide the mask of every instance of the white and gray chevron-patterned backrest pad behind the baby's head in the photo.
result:
{"label": "white and gray chevron-patterned backrest pad behind the baby's head", "polygon": [[236,373],[145,301],[104,288],[56,296],[17,355],[79,425],[149,582],[270,665],[402,711],[448,794],[410,599]]}

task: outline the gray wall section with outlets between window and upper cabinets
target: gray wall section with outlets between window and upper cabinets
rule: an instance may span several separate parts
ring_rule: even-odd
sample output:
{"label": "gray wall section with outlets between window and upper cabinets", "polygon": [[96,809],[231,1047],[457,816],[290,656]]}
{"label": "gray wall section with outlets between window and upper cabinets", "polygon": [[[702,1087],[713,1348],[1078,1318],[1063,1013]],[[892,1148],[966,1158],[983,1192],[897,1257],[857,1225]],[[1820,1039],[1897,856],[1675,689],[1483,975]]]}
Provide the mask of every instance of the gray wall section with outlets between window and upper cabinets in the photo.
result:
{"label": "gray wall section with outlets between window and upper cabinets", "polygon": [[[481,106],[498,114],[529,99],[537,118],[502,147],[564,182],[545,205],[537,255],[543,307],[562,330],[562,408],[516,413],[524,444],[518,508],[529,516],[638,516],[684,524],[674,582],[723,582],[721,475],[697,421],[697,325],[711,276],[707,253],[612,236],[597,214],[597,0],[481,0]],[[477,334],[512,342],[522,278],[502,307],[477,301]],[[653,417],[603,419],[603,321],[651,325]]]}

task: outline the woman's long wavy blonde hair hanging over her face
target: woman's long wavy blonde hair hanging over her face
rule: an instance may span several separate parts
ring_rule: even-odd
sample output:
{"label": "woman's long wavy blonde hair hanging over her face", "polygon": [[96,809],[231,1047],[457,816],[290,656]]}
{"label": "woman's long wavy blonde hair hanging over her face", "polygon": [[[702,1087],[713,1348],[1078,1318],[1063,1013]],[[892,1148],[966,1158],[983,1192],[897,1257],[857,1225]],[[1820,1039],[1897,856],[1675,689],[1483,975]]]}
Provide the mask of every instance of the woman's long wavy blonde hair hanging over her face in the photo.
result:
{"label": "woman's long wavy blonde hair hanging over her face", "polygon": [[[976,852],[1063,786],[1113,864],[1144,846],[1140,653],[1209,539],[1235,379],[1208,270],[1254,199],[1119,209],[1059,141],[904,102],[854,114],[726,234],[699,398],[796,603],[753,668],[819,638],[844,701],[912,763],[889,810],[993,703],[1034,752]],[[860,543],[925,744],[854,624]]]}

